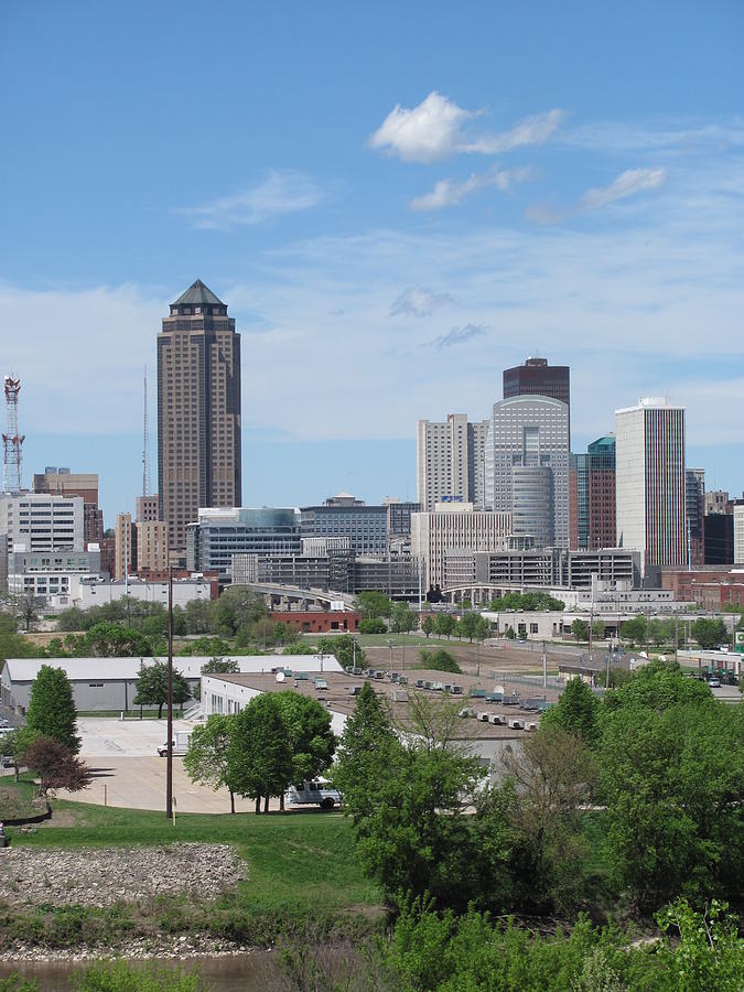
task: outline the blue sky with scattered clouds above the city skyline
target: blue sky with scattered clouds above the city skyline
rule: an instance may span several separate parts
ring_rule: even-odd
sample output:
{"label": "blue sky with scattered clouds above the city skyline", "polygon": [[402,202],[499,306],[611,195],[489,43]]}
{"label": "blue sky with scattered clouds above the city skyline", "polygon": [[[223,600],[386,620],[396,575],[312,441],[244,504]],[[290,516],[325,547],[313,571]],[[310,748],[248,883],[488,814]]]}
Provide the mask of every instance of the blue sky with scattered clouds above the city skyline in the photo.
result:
{"label": "blue sky with scattered clouds above the city skyline", "polygon": [[[0,29],[0,373],[23,477],[142,490],[196,278],[242,335],[242,503],[416,496],[416,422],[571,366],[576,451],[667,395],[744,487],[744,6],[68,3]],[[157,439],[149,452],[157,488]]]}

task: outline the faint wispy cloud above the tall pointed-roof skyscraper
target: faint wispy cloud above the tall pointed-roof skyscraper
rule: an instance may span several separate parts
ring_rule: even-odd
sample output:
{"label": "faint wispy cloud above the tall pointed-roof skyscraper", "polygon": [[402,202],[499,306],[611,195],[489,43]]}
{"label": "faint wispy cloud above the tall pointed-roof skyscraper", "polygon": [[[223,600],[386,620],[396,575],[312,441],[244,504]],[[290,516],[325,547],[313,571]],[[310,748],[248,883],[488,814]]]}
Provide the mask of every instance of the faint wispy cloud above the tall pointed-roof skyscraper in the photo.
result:
{"label": "faint wispy cloud above the tall pointed-roof skyscraper", "polygon": [[271,170],[262,182],[249,190],[217,197],[202,206],[182,207],[179,213],[193,227],[224,230],[308,211],[322,200],[320,188],[304,173]]}

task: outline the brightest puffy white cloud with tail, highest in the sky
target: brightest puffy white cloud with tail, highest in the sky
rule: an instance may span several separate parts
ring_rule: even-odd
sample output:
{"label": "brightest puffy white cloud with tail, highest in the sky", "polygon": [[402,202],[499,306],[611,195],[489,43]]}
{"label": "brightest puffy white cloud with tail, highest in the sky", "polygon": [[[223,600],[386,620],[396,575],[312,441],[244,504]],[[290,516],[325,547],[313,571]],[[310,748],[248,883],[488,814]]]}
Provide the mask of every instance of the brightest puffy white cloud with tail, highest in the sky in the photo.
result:
{"label": "brightest puffy white cloud with tail, highest in the sky", "polygon": [[370,136],[369,145],[397,154],[403,162],[436,162],[457,152],[492,155],[521,145],[542,144],[565,117],[562,110],[549,110],[525,118],[504,133],[470,137],[464,126],[481,114],[465,110],[433,90],[412,109],[396,105]]}

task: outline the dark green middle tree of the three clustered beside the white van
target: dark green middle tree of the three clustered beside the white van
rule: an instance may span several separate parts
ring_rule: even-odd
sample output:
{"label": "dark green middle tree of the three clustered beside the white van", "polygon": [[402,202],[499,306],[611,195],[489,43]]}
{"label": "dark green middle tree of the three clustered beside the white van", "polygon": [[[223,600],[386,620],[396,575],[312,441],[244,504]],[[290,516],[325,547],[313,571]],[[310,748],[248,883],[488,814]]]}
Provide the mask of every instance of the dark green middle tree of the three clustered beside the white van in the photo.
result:
{"label": "dark green middle tree of the three clustered beside the white van", "polygon": [[227,776],[240,796],[256,800],[256,812],[269,811],[269,799],[283,796],[292,781],[292,748],[276,693],[251,699],[233,723]]}

